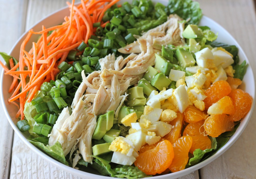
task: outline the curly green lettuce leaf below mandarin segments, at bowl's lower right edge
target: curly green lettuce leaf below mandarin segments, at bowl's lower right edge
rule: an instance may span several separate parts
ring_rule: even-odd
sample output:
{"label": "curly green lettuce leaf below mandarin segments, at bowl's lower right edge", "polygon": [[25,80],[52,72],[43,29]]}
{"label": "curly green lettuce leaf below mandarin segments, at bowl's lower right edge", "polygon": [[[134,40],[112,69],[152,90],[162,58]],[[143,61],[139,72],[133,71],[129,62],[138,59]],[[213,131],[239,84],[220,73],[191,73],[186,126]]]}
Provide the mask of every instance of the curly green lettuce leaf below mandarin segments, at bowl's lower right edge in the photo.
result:
{"label": "curly green lettuce leaf below mandarin segments, at bowl's lower right edge", "polygon": [[210,149],[205,149],[205,150],[196,149],[193,152],[194,157],[189,159],[189,162],[186,165],[186,168],[191,167],[191,166],[199,163],[201,161],[201,159],[204,157],[205,154],[207,154],[208,152],[211,152],[212,150],[216,150],[216,148],[217,148],[216,138],[211,137],[211,148]]}

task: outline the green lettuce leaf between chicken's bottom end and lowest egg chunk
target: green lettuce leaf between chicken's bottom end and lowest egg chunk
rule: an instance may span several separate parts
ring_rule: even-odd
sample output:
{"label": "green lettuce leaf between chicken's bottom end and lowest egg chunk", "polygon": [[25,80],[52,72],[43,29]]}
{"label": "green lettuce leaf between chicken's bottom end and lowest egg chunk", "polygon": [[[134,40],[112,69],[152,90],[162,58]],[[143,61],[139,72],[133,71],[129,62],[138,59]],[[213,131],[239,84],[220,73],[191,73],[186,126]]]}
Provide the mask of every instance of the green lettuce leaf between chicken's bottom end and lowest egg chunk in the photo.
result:
{"label": "green lettuce leaf between chicken's bottom end and lowest egg chunk", "polygon": [[102,175],[109,175],[111,177],[114,177],[117,173],[111,169],[110,166],[110,162],[102,159],[98,156],[92,156],[93,159],[93,163],[92,163],[92,168],[94,168],[95,170],[97,170],[98,172],[100,172]]}

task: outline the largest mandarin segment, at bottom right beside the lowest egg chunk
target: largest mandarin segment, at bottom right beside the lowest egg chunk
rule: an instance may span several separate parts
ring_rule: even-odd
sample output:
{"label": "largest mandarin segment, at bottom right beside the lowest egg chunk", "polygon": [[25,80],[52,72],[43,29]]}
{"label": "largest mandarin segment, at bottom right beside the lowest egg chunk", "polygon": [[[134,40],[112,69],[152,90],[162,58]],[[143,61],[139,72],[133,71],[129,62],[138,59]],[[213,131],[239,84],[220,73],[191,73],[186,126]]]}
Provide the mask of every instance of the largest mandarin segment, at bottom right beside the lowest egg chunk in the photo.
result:
{"label": "largest mandarin segment, at bottom right beside the lowest egg chunk", "polygon": [[139,154],[134,165],[147,175],[155,175],[164,172],[172,163],[173,158],[172,143],[163,140],[155,148]]}

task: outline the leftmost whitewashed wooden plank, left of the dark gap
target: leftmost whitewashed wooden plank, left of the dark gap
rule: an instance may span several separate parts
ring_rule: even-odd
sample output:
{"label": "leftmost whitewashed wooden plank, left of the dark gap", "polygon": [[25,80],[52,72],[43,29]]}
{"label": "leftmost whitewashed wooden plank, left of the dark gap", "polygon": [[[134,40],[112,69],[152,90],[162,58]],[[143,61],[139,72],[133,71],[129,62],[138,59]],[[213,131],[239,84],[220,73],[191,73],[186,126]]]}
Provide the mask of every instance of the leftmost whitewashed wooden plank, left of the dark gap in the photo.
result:
{"label": "leftmost whitewashed wooden plank, left of the dark gap", "polygon": [[[0,49],[1,52],[9,53],[24,31],[27,0],[0,0],[0,4]],[[4,62],[2,57],[0,60]],[[2,74],[2,68],[0,71]],[[0,111],[2,111],[0,113],[2,127],[0,130],[2,136],[0,140],[0,178],[9,178],[14,131],[3,112],[2,103],[0,104]]]}

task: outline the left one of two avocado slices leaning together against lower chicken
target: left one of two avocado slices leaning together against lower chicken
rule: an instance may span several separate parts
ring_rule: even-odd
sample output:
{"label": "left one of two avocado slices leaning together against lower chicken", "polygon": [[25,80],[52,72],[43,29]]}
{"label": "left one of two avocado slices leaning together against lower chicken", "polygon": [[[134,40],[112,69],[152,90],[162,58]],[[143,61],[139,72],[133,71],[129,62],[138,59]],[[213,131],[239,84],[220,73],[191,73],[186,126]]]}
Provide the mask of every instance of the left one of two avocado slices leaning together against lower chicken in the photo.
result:
{"label": "left one of two avocado slices leaning together against lower chicken", "polygon": [[97,121],[96,128],[93,132],[92,138],[93,139],[101,139],[106,133],[106,116],[101,115]]}

